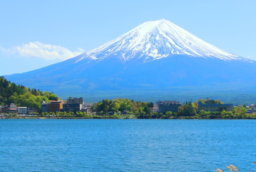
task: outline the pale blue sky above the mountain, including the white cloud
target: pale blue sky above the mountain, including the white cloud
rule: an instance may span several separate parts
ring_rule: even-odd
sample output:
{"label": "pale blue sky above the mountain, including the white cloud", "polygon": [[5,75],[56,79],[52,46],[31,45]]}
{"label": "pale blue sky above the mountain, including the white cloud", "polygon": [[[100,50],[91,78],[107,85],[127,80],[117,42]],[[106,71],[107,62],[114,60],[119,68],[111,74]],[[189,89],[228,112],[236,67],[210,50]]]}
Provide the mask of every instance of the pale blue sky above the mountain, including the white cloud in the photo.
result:
{"label": "pale blue sky above the mountain, including the white cloud", "polygon": [[255,0],[0,0],[0,76],[61,62],[162,18],[256,60],[255,9]]}

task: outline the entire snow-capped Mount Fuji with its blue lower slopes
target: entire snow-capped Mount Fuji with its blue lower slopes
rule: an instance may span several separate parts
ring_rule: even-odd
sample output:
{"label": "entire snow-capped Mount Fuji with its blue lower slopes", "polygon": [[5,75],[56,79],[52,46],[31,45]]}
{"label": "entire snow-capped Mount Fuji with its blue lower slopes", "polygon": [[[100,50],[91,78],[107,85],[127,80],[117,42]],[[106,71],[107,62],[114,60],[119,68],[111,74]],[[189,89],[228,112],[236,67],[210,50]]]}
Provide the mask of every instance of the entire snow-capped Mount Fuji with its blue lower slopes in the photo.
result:
{"label": "entire snow-capped Mount Fuji with its blue lower slopes", "polygon": [[255,97],[255,73],[256,61],[221,50],[162,19],[144,22],[66,61],[5,77],[62,98],[183,101],[211,96],[239,102]]}

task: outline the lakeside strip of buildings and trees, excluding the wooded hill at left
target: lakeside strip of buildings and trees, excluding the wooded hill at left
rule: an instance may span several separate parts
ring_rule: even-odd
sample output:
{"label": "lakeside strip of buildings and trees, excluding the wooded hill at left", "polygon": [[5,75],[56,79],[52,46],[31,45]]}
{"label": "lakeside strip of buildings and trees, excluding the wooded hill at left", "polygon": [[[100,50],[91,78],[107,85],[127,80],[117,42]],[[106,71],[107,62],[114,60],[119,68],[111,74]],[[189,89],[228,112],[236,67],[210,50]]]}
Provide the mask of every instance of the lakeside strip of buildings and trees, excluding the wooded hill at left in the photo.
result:
{"label": "lakeside strip of buildings and trees, excluding the wooded hill at left", "polygon": [[66,101],[50,100],[42,101],[41,109],[33,107],[16,106],[14,103],[0,106],[0,118],[6,117],[27,118],[238,118],[254,119],[256,117],[256,105],[224,104],[220,100],[200,99],[194,103],[178,101],[161,101],[156,103],[134,102],[127,98],[115,100],[102,100],[98,103],[86,103],[82,97],[69,97]]}

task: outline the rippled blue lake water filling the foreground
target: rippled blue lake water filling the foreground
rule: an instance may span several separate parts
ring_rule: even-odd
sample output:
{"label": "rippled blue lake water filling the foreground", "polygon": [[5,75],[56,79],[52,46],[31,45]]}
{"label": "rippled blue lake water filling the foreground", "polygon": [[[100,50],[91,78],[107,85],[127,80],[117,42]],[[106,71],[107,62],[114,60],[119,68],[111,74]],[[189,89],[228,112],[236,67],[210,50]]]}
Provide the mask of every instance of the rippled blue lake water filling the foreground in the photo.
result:
{"label": "rippled blue lake water filling the foreground", "polygon": [[256,120],[0,120],[0,171],[256,171]]}

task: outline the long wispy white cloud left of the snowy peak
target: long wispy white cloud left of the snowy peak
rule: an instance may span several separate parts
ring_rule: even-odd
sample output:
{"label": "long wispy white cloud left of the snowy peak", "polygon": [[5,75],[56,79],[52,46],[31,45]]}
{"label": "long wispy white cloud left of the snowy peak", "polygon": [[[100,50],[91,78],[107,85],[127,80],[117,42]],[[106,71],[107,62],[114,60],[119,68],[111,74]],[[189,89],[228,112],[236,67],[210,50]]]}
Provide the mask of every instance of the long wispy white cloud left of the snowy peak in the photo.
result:
{"label": "long wispy white cloud left of the snowy peak", "polygon": [[18,53],[20,54],[20,56],[38,57],[38,58],[44,58],[47,60],[54,60],[54,59],[67,60],[69,58],[72,58],[84,53],[84,50],[82,48],[78,48],[77,51],[72,52],[62,46],[44,44],[38,41],[29,42],[29,44],[23,44],[21,46],[16,46],[10,49],[5,49],[0,47],[0,50],[8,54]]}

